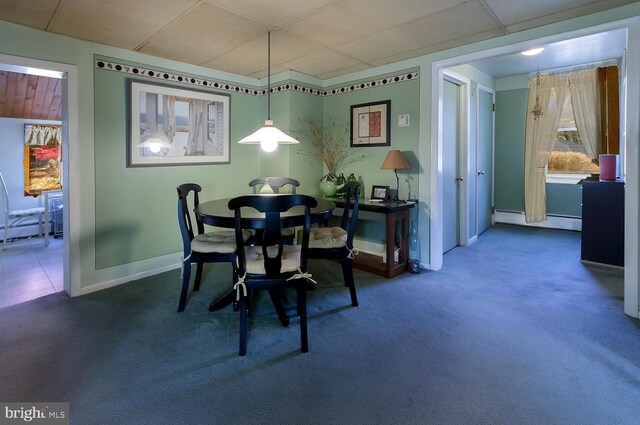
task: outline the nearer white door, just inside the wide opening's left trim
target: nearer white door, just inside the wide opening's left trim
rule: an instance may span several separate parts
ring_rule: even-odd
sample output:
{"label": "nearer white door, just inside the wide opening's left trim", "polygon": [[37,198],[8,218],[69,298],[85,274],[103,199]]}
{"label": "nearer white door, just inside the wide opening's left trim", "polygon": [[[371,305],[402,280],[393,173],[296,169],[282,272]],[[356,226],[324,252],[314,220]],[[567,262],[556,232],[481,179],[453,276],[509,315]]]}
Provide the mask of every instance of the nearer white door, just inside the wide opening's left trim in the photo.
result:
{"label": "nearer white door, just inside the wide opening's left trim", "polygon": [[458,183],[458,146],[460,142],[460,86],[443,82],[442,106],[442,179],[443,244],[447,252],[460,243],[460,192]]}

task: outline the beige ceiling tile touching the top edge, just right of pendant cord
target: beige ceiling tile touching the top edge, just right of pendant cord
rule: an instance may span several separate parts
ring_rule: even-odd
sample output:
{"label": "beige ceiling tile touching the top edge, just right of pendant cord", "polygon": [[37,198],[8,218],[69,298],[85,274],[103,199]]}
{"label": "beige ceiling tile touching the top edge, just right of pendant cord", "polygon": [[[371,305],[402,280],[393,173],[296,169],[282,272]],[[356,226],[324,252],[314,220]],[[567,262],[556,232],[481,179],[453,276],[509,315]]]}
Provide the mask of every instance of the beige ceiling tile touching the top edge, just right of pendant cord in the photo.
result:
{"label": "beige ceiling tile touching the top edge, just right of pendant cord", "polygon": [[[476,0],[473,2],[475,3]],[[291,25],[286,25],[283,29],[331,47],[462,3],[468,2],[462,0],[402,0],[401,2],[344,0]]]}

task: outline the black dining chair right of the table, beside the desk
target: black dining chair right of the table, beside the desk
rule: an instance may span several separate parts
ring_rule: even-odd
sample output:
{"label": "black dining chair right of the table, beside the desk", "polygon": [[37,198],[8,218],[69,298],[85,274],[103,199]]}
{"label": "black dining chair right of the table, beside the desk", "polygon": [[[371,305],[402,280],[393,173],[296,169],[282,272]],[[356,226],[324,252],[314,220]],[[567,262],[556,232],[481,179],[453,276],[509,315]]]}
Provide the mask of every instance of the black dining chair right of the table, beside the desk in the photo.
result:
{"label": "black dining chair right of the table, beside the desk", "polygon": [[344,284],[349,287],[351,305],[354,307],[358,306],[358,296],[353,280],[353,257],[357,254],[357,250],[353,248],[353,235],[358,223],[360,190],[360,183],[346,183],[345,206],[340,227],[314,228],[309,235],[309,258],[340,261]]}

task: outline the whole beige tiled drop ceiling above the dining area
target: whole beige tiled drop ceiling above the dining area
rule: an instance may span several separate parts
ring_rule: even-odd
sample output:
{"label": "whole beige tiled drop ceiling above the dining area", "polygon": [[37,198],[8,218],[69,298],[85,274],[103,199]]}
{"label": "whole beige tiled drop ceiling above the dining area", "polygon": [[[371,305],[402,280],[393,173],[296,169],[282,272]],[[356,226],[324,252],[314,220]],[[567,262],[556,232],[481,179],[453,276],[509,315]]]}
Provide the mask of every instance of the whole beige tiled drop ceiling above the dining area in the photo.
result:
{"label": "whole beige tiled drop ceiling above the dining area", "polygon": [[239,75],[330,78],[631,0],[0,0],[0,19]]}

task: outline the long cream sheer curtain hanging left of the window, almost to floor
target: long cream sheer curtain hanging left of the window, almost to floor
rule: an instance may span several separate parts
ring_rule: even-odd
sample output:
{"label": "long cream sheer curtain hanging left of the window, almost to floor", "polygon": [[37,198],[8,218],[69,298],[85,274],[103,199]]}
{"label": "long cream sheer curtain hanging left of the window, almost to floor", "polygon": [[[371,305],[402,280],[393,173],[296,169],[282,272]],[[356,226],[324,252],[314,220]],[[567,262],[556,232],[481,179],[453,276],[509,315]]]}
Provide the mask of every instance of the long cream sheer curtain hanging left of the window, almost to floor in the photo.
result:
{"label": "long cream sheer curtain hanging left of the window, almost to floor", "polygon": [[[529,82],[524,143],[524,211],[527,223],[547,219],[545,167],[556,140],[567,83],[567,75],[538,75]],[[541,114],[534,114],[538,107]]]}

